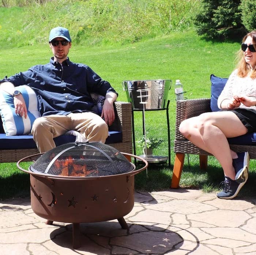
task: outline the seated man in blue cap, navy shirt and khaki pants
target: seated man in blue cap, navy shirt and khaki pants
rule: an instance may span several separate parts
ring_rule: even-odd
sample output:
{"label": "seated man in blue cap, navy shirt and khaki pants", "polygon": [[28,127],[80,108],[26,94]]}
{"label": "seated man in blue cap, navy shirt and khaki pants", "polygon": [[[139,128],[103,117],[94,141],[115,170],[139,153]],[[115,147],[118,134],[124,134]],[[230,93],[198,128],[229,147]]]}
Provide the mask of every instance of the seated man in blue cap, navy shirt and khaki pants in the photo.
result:
{"label": "seated man in blue cap, navy shirt and khaki pants", "polygon": [[[53,138],[70,130],[78,131],[89,142],[105,143],[118,94],[89,66],[69,60],[71,38],[67,28],[53,28],[49,46],[53,57],[48,64],[32,66],[26,72],[0,80],[3,89],[14,97],[16,114],[26,118],[27,108],[22,94],[10,83],[28,85],[37,94],[41,117],[35,119],[31,132],[41,153],[55,147]],[[101,116],[92,111],[90,93],[105,96]]]}

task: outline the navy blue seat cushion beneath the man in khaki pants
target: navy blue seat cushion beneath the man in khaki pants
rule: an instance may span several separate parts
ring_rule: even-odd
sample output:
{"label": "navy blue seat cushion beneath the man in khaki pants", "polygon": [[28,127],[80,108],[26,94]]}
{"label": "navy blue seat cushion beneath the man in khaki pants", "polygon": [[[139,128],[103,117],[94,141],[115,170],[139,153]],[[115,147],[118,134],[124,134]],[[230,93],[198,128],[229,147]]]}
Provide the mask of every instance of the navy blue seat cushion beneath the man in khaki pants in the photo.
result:
{"label": "navy blue seat cushion beneath the man in khaki pants", "polygon": [[[123,135],[120,131],[109,131],[109,136],[106,139],[106,144],[122,142]],[[74,135],[61,135],[54,138],[56,146],[64,143],[74,143]],[[14,135],[7,136],[0,134],[0,150],[5,149],[31,149],[37,148],[32,135]]]}

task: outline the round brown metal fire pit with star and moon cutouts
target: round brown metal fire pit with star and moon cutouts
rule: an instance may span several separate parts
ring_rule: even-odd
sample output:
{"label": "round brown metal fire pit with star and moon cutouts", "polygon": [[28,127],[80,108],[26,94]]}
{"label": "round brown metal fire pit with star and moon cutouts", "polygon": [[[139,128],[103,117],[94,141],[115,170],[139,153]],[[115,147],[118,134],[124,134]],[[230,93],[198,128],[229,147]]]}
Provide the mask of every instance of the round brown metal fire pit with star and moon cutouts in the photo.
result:
{"label": "round brown metal fire pit with star and moon cutouts", "polygon": [[[71,146],[69,147],[74,145],[73,143],[70,144]],[[80,143],[78,146],[83,146],[82,150],[86,151],[86,145],[88,145],[87,147],[97,147],[97,144],[101,143]],[[65,160],[61,160],[64,166],[57,166],[59,168],[67,168],[67,166],[65,166],[66,163],[71,163],[68,167],[68,171],[70,173],[72,169],[72,176],[63,175],[62,172],[59,175],[49,174],[49,172],[40,173],[33,169],[33,166],[40,161],[45,154],[49,155],[49,151],[45,152],[45,154],[28,156],[17,162],[17,166],[20,170],[30,174],[31,208],[34,213],[46,219],[46,224],[53,224],[53,221],[73,223],[74,248],[80,247],[79,223],[117,219],[121,227],[128,230],[128,225],[123,217],[131,212],[134,206],[134,175],[143,171],[148,166],[147,161],[143,158],[118,152],[115,148],[105,144],[101,145],[101,147],[102,146],[106,146],[108,149],[110,148],[112,150],[111,158],[115,157],[113,156],[113,152],[115,152],[115,155],[118,155],[119,158],[123,157],[120,161],[127,161],[128,167],[129,165],[131,166],[131,170],[124,173],[100,176],[95,176],[97,175],[97,171],[91,171],[92,176],[90,176],[88,170],[86,170],[85,176],[81,176],[81,174],[80,176],[74,176],[72,167],[75,166],[75,163],[74,159],[70,161],[70,158],[73,158],[73,156],[72,152],[68,151],[68,149],[66,149],[67,151],[65,153],[69,155],[69,157]],[[76,147],[76,145],[73,147]],[[60,158],[61,153],[55,157],[55,160],[58,157]],[[105,152],[103,153],[107,154]],[[89,154],[91,154],[91,152]],[[95,152],[93,155],[95,155]],[[107,155],[107,157],[109,156]],[[131,157],[143,161],[145,166],[135,170],[135,165],[127,159]],[[112,160],[111,158],[110,160]],[[80,165],[81,168],[83,168],[83,165],[87,163],[87,157],[81,156],[79,160],[80,162],[82,160],[83,163]],[[25,161],[34,162],[33,165],[29,167],[29,170],[20,167],[20,163]],[[54,165],[56,163],[52,164]],[[49,167],[46,168],[49,170]],[[95,166],[95,170],[96,168],[97,166]]]}

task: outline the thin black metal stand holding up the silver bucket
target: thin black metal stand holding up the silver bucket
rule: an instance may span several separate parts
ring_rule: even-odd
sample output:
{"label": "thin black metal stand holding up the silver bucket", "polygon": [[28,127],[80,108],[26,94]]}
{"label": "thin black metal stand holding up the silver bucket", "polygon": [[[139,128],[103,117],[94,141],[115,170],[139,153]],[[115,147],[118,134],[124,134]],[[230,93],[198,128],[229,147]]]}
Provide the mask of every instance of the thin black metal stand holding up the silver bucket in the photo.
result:
{"label": "thin black metal stand holding up the silver bucket", "polygon": [[[169,104],[170,100],[167,101],[166,108],[159,109],[132,109],[132,140],[133,140],[133,154],[136,155],[136,143],[135,143],[135,131],[134,131],[134,112],[140,111],[142,112],[142,127],[143,127],[143,135],[145,130],[145,121],[144,121],[144,111],[166,111],[166,119],[167,119],[167,132],[168,132],[168,158],[162,156],[153,156],[151,158],[147,158],[146,160],[150,163],[161,163],[165,162],[168,159],[168,165],[171,166],[171,142],[170,142],[170,121],[169,121]],[[141,156],[140,156],[141,157]],[[136,158],[134,158],[136,164]]]}

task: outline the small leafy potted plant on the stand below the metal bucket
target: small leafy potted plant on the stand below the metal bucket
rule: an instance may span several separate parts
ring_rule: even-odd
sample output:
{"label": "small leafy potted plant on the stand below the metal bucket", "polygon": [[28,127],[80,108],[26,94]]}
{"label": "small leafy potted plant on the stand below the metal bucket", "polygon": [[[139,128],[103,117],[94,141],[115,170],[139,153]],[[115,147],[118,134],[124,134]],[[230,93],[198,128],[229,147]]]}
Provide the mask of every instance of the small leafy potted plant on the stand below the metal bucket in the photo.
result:
{"label": "small leafy potted plant on the stand below the metal bucket", "polygon": [[148,132],[136,141],[138,146],[143,149],[143,157],[153,157],[153,149],[162,142],[163,140],[150,136]]}

